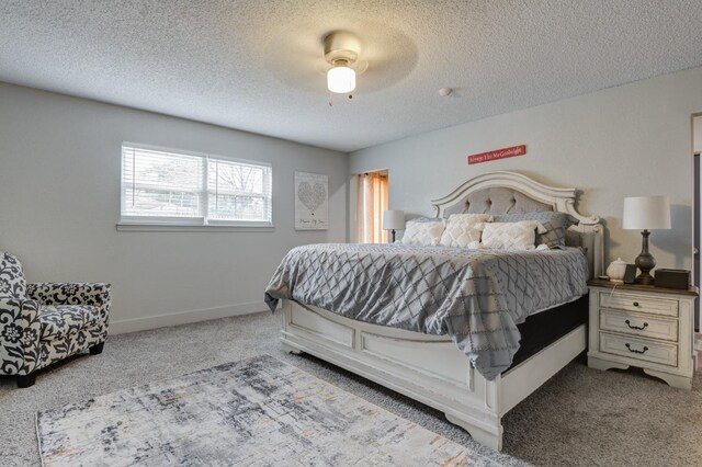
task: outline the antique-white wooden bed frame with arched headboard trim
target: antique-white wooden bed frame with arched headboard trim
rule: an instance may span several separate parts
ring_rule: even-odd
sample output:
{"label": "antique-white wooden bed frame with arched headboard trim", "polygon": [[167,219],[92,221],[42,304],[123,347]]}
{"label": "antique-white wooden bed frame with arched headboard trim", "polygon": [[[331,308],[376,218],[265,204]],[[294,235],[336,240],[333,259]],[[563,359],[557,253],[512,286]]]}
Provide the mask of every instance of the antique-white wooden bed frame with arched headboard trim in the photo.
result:
{"label": "antique-white wooden bed frame with arched headboard trim", "polygon": [[[503,186],[579,220],[570,229],[587,248],[592,275],[602,271],[602,225],[575,209],[576,190],[555,189],[513,172],[476,176],[432,202],[437,216],[474,191]],[[587,348],[586,324],[488,381],[448,337],[428,335],[341,317],[283,300],[283,349],[306,352],[444,412],[474,440],[502,447],[501,418]]]}

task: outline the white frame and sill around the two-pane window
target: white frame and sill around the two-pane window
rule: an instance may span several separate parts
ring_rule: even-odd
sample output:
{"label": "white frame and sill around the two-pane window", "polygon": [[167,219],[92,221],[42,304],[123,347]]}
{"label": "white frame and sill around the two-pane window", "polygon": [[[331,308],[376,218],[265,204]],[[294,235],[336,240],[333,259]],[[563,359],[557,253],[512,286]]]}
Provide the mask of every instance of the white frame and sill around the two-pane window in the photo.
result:
{"label": "white frame and sill around the two-pane window", "polygon": [[[203,205],[204,216],[196,217],[179,217],[179,216],[131,216],[124,213],[124,148],[143,149],[147,151],[168,152],[172,155],[182,155],[190,157],[199,157],[203,159],[203,189],[201,192],[201,203]],[[208,217],[210,209],[210,186],[207,185],[208,163],[210,160],[220,160],[224,162],[241,163],[264,168],[269,174],[269,195],[268,209],[270,212],[269,220],[227,220]],[[265,183],[265,182],[264,182]],[[250,159],[233,158],[206,152],[190,151],[183,149],[168,148],[163,146],[144,145],[139,143],[122,141],[120,146],[120,221],[116,225],[117,230],[123,231],[270,231],[274,229],[273,225],[273,164]]]}

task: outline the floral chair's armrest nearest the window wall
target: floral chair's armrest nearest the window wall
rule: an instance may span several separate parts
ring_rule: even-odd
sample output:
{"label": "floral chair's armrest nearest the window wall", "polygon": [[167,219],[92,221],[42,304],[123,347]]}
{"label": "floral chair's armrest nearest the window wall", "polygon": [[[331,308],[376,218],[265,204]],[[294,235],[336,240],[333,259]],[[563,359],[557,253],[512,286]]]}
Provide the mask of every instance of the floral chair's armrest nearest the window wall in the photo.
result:
{"label": "floral chair's armrest nearest the window wall", "polygon": [[35,283],[26,285],[27,295],[42,305],[92,305],[110,308],[110,284],[82,283]]}

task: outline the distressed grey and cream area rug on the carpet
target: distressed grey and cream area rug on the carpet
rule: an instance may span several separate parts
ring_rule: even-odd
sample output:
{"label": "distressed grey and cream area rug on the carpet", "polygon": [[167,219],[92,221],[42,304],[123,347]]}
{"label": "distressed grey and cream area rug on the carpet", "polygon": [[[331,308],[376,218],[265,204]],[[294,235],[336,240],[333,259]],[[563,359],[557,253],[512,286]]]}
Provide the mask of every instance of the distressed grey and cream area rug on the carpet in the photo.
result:
{"label": "distressed grey and cream area rug on the carpet", "polygon": [[44,466],[497,466],[270,355],[37,413]]}

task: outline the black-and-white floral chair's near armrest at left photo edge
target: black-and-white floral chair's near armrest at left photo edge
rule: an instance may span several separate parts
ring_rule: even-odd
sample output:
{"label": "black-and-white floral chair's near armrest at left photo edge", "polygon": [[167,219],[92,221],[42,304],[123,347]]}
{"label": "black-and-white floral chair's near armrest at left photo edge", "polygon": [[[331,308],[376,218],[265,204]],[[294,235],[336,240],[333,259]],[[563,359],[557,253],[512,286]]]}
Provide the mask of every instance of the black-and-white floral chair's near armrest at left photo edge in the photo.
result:
{"label": "black-and-white floral chair's near armrest at left photo edge", "polygon": [[0,374],[27,375],[39,357],[39,304],[0,297]]}

